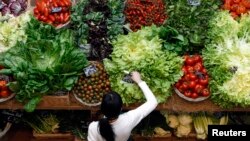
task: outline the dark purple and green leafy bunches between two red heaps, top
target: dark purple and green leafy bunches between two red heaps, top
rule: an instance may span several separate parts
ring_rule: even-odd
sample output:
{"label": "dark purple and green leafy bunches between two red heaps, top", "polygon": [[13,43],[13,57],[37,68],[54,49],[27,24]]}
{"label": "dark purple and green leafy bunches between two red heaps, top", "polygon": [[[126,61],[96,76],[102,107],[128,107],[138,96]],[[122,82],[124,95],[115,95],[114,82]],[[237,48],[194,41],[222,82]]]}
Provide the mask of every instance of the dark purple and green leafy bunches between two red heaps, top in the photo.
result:
{"label": "dark purple and green leafy bunches between two red heaps, top", "polygon": [[81,0],[72,7],[72,24],[77,44],[86,49],[90,60],[102,60],[112,52],[110,41],[123,34],[122,0]]}

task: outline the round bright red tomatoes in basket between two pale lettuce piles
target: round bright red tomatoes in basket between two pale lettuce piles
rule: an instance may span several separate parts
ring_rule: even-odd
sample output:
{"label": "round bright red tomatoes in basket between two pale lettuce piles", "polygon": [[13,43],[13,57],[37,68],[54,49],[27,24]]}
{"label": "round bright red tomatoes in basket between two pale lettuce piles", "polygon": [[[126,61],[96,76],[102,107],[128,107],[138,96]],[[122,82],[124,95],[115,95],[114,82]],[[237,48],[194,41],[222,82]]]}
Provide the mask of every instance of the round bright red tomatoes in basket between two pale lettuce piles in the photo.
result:
{"label": "round bright red tomatoes in basket between two pale lettuce piles", "polygon": [[209,76],[203,66],[200,55],[185,55],[182,67],[184,75],[175,83],[175,87],[186,97],[196,99],[210,95],[208,88]]}

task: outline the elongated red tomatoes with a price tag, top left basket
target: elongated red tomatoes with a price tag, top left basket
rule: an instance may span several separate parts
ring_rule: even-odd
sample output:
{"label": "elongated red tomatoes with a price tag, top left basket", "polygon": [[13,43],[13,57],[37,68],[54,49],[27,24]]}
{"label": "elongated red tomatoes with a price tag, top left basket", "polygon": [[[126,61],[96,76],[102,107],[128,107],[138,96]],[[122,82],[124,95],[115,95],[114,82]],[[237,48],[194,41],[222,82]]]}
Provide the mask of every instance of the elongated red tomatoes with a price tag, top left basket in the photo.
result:
{"label": "elongated red tomatoes with a price tag, top left basket", "polygon": [[34,15],[39,21],[57,27],[69,21],[70,6],[71,0],[38,0]]}

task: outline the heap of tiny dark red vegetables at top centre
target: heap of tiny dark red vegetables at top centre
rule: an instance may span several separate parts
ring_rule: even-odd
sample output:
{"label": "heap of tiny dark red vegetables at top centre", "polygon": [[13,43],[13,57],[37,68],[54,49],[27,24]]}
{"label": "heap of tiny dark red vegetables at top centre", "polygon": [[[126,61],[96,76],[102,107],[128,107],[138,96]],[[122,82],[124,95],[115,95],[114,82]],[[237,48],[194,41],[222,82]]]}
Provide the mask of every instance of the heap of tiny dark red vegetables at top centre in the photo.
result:
{"label": "heap of tiny dark red vegetables at top centre", "polygon": [[124,13],[132,31],[162,25],[167,18],[163,0],[127,0]]}

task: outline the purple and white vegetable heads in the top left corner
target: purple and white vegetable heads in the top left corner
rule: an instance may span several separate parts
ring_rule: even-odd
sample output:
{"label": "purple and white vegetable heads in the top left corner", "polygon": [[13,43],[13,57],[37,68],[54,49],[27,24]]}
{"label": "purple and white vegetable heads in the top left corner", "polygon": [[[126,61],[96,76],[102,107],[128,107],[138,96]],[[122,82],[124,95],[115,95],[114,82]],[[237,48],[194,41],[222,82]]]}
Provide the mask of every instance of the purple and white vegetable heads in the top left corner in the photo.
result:
{"label": "purple and white vegetable heads in the top left corner", "polygon": [[2,16],[13,15],[19,16],[27,9],[27,0],[0,0],[0,14]]}

